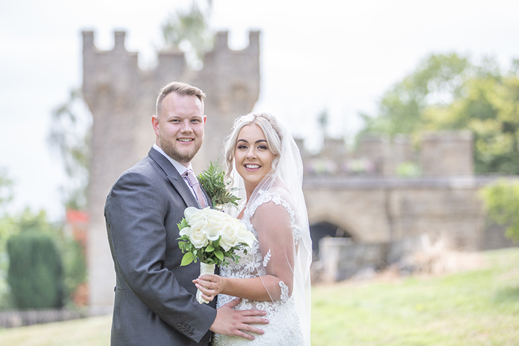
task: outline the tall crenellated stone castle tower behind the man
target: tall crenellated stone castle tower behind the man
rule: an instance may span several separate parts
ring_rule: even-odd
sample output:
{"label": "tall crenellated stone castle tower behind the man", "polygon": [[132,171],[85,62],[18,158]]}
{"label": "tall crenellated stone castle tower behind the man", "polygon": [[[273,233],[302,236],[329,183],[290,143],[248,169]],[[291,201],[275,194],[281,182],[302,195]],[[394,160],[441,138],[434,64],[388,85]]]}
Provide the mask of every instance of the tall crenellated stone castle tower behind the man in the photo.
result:
{"label": "tall crenellated stone castle tower behind the man", "polygon": [[162,86],[177,80],[206,95],[206,135],[193,161],[205,169],[221,152],[233,119],[248,113],[260,93],[260,33],[249,34],[242,51],[228,48],[228,33],[217,33],[201,71],[192,71],[179,51],[158,53],[155,69],[138,67],[138,54],[125,49],[125,32],[115,33],[111,51],[95,47],[91,31],[83,32],[83,95],[93,116],[89,185],[89,300],[92,313],[113,304],[115,273],[104,225],[104,201],[118,176],[143,158],[155,141],[151,117]]}

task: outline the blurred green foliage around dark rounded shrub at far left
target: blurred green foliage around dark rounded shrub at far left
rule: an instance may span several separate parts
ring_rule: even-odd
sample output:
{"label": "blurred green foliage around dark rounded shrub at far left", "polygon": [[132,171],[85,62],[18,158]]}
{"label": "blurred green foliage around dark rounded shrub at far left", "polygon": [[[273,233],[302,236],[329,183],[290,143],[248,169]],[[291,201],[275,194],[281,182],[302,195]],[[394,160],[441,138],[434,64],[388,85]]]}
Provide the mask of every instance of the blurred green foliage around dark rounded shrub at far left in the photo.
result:
{"label": "blurred green foliage around dark rounded shrub at far left", "polygon": [[85,281],[83,249],[63,224],[44,210],[1,215],[0,310],[76,308],[73,293]]}

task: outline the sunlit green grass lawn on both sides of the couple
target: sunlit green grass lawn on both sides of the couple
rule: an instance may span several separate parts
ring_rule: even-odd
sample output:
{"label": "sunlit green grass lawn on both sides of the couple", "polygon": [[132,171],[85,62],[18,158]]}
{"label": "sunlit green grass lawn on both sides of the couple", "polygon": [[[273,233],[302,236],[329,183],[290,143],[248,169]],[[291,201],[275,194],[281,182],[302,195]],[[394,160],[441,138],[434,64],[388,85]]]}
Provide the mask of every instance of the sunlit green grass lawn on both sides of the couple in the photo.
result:
{"label": "sunlit green grass lawn on both sides of the couple", "polygon": [[[519,345],[519,248],[450,275],[316,285],[312,345]],[[0,329],[0,345],[109,345],[110,316]]]}

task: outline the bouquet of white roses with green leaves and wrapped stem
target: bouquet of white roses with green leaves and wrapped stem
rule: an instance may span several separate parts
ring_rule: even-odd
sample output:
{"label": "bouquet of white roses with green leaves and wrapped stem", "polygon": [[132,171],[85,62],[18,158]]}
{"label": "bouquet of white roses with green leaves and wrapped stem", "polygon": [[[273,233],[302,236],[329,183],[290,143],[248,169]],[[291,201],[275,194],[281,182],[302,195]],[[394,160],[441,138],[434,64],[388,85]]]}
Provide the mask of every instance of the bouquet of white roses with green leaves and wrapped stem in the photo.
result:
{"label": "bouquet of white roses with green leaves and wrapped stem", "polygon": [[[180,235],[179,247],[182,257],[181,266],[200,260],[200,274],[214,274],[215,266],[228,265],[229,260],[237,262],[239,255],[236,251],[246,246],[252,246],[256,240],[244,224],[230,215],[218,210],[188,207],[184,218],[178,224]],[[208,302],[201,298],[197,291],[197,300]]]}

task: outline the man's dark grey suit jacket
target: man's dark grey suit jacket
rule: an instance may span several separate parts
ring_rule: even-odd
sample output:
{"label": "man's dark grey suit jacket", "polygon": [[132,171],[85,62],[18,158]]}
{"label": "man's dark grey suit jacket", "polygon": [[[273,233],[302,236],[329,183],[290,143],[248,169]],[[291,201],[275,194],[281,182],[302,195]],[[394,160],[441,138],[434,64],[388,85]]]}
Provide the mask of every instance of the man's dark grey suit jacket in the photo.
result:
{"label": "man's dark grey suit jacket", "polygon": [[180,266],[176,224],[188,206],[200,208],[179,172],[153,148],[113,184],[104,206],[116,268],[112,346],[210,342],[215,302],[194,298],[199,262]]}

